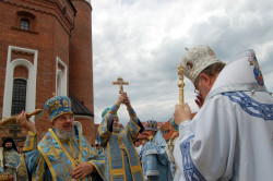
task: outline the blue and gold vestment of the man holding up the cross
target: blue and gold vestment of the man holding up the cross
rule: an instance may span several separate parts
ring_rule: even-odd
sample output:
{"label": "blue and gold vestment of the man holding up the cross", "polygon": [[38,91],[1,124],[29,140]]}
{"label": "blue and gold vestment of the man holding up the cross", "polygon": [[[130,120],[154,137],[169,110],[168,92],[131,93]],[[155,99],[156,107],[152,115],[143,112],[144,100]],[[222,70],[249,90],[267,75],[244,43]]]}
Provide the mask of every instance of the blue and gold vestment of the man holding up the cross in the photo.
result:
{"label": "blue and gold vestment of the man holding up the cross", "polygon": [[133,108],[128,109],[130,122],[118,133],[111,132],[112,119],[118,111],[114,105],[99,124],[100,144],[105,148],[105,177],[109,181],[143,181],[143,172],[133,141],[144,128]]}

